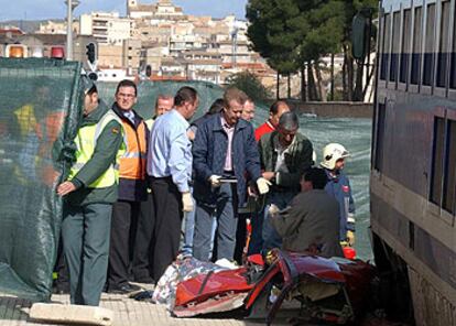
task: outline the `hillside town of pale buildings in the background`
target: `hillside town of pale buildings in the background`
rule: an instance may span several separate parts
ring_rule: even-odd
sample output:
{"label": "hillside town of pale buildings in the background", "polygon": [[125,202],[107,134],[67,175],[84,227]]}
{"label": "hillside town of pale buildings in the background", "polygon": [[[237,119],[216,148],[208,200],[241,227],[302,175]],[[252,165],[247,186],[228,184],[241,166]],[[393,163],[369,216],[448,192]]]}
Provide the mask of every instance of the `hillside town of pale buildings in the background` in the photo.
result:
{"label": "hillside town of pale buildings in the background", "polygon": [[[239,72],[272,85],[275,72],[249,48],[247,21],[186,14],[172,0],[126,0],[127,15],[88,12],[73,20],[73,58],[96,70],[100,80],[140,76],[152,80],[206,80],[225,84]],[[0,29],[0,57],[65,57],[64,20],[41,22],[33,32]],[[95,44],[96,67],[87,62]]]}

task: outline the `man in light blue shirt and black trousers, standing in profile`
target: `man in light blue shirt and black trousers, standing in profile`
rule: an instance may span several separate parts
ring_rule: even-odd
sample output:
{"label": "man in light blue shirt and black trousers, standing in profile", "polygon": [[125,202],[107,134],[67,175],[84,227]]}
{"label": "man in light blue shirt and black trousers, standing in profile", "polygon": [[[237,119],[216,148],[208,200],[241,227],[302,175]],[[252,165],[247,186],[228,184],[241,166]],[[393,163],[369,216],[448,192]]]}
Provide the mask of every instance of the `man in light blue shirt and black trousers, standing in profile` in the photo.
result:
{"label": "man in light blue shirt and black trousers, standing in profile", "polygon": [[193,210],[189,192],[193,157],[187,120],[198,107],[196,90],[182,87],[174,105],[173,110],[155,120],[148,153],[155,211],[153,279],[156,282],[177,256],[183,211]]}

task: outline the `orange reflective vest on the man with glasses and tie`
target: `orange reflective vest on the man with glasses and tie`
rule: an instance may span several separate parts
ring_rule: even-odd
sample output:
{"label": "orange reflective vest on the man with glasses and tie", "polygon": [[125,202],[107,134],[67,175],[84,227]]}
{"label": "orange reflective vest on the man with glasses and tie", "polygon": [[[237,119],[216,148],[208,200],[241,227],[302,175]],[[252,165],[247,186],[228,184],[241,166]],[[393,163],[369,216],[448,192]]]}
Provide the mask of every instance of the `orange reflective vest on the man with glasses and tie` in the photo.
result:
{"label": "orange reflective vest on the man with glasses and tie", "polygon": [[120,157],[119,177],[144,180],[148,150],[145,133],[148,132],[148,128],[144,121],[141,121],[137,129],[124,120],[122,120],[122,126],[124,130],[123,141],[127,150]]}

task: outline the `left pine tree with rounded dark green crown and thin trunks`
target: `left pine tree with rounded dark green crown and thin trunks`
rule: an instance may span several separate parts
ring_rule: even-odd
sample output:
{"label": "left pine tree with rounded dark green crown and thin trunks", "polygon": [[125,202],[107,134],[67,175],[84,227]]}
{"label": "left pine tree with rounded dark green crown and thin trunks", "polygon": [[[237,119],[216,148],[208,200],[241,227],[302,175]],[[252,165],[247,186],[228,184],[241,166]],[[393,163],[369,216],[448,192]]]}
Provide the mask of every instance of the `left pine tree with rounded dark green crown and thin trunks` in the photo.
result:
{"label": "left pine tree with rounded dark green crown and thin trunks", "polygon": [[[253,50],[281,74],[302,73],[302,98],[305,99],[305,68],[308,93],[313,99],[316,86],[312,78],[321,56],[332,53],[340,43],[341,1],[250,0],[248,36]],[[318,74],[317,74],[318,75]]]}

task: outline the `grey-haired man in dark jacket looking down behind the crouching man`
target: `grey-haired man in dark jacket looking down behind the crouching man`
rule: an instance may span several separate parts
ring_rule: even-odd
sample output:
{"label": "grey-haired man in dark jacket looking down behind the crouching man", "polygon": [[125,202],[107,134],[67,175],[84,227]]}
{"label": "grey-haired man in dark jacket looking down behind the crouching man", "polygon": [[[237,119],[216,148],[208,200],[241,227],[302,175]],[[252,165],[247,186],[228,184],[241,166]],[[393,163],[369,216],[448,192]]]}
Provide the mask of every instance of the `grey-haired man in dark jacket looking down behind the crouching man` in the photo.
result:
{"label": "grey-haired man in dark jacket looking down behind the crouching man", "polygon": [[[264,206],[263,250],[281,244],[281,238],[270,222],[270,208],[276,206],[279,209],[284,209],[289,206],[293,197],[300,192],[301,175],[313,163],[312,142],[297,131],[298,128],[300,121],[296,113],[284,112],[279,119],[278,129],[263,135],[258,144],[263,171],[262,176],[272,183]],[[259,232],[259,227],[253,226],[253,228],[257,228],[253,229],[253,232]]]}

